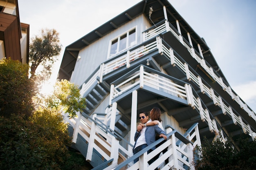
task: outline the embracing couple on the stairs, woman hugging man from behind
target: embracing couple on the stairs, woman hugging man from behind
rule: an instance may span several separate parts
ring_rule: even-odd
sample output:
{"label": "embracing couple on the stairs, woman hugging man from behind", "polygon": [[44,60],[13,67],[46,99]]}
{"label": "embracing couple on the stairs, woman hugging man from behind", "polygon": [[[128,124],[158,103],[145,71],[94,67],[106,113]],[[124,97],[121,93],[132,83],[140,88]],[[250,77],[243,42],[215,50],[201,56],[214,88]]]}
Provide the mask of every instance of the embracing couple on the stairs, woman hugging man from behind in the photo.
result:
{"label": "embracing couple on the stairs, woman hugging man from behind", "polygon": [[[153,142],[155,142],[156,134],[160,134],[159,137],[163,137],[167,139],[166,133],[164,132],[164,128],[162,127],[161,120],[161,110],[157,107],[154,107],[150,111],[151,119],[148,120],[148,113],[141,112],[139,113],[139,120],[141,123],[137,126],[137,131],[135,133],[135,144],[133,147],[133,154],[135,155],[140,150],[146,148]],[[160,128],[161,127],[161,128]],[[148,153],[154,150],[156,147],[151,148]],[[139,158],[134,160],[134,163],[139,161]],[[152,163],[152,160],[149,161],[149,164]]]}

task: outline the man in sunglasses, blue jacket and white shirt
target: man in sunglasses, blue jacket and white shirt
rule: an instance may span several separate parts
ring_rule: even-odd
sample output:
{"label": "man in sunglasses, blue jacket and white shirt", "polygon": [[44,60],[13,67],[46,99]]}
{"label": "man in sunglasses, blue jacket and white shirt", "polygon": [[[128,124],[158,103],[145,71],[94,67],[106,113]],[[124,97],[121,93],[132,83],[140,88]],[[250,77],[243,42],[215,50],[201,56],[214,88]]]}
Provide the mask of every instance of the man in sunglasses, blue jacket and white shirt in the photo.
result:
{"label": "man in sunglasses, blue jacket and white shirt", "polygon": [[[139,120],[142,124],[146,124],[148,122],[148,113],[141,112],[139,114]],[[133,154],[135,155],[140,150],[146,148],[153,142],[155,142],[155,135],[160,134],[159,137],[164,137],[164,139],[167,139],[166,133],[159,128],[157,125],[155,126],[144,126],[141,125],[137,126],[137,131],[134,136],[135,144],[133,147]],[[150,153],[152,150],[155,149],[155,146],[151,148],[148,153]],[[139,158],[134,160],[134,163],[139,161]],[[150,163],[149,163],[150,164]]]}

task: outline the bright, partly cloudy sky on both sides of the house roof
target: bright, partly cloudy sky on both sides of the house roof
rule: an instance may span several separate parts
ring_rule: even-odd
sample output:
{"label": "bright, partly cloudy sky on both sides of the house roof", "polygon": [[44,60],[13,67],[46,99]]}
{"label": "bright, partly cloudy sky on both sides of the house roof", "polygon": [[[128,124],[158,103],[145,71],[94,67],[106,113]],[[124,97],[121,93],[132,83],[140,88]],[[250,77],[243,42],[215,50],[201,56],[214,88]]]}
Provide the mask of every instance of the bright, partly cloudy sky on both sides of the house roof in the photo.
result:
{"label": "bright, partly cloudy sky on both sides of the house roof", "polygon": [[[56,29],[65,47],[141,0],[18,0],[30,38]],[[256,0],[168,0],[211,49],[236,94],[256,112]],[[153,7],[154,9],[154,7]],[[153,14],[152,14],[153,15]]]}

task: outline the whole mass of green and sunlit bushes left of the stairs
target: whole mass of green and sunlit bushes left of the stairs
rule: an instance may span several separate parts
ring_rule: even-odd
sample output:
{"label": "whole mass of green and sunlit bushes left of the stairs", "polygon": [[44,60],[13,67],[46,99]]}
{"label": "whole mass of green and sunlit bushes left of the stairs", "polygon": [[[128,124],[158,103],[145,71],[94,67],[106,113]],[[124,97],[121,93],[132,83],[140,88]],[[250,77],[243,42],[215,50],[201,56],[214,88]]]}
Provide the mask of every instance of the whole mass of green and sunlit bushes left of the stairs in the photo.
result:
{"label": "whole mass of green and sunlit bushes left of the stairs", "polygon": [[4,59],[0,61],[0,73],[0,169],[78,170],[85,167],[85,162],[81,159],[77,162],[67,150],[71,139],[59,112],[65,106],[66,111],[75,115],[85,108],[79,89],[63,80],[57,88],[61,90],[54,92],[55,97],[40,100],[52,101],[52,104],[39,104],[34,110],[32,97],[37,90],[33,80],[28,79],[28,66]]}

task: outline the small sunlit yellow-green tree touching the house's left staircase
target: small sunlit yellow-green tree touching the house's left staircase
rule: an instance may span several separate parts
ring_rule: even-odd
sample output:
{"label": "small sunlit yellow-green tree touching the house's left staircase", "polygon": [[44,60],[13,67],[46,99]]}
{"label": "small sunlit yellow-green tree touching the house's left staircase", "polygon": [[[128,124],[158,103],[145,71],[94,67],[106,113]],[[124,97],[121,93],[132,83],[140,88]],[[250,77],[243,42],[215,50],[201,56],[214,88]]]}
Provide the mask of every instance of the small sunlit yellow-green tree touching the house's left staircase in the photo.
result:
{"label": "small sunlit yellow-green tree touching the house's left staircase", "polygon": [[56,82],[53,95],[48,97],[47,103],[50,108],[62,109],[71,117],[86,107],[85,98],[81,97],[78,86],[65,79]]}

